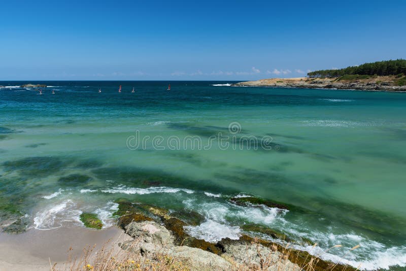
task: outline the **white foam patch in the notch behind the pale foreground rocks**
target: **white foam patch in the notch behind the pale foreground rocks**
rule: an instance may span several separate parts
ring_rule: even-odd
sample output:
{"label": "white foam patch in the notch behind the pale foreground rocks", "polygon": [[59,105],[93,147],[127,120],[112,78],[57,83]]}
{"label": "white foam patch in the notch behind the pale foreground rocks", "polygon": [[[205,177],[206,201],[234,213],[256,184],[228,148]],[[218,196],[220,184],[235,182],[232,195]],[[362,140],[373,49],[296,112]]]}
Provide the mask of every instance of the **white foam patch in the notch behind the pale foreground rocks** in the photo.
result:
{"label": "white foam patch in the notch behind the pale foreground rocks", "polygon": [[185,226],[184,229],[194,238],[210,243],[216,243],[223,238],[237,240],[241,236],[240,227],[220,224],[213,220],[207,220],[198,226]]}

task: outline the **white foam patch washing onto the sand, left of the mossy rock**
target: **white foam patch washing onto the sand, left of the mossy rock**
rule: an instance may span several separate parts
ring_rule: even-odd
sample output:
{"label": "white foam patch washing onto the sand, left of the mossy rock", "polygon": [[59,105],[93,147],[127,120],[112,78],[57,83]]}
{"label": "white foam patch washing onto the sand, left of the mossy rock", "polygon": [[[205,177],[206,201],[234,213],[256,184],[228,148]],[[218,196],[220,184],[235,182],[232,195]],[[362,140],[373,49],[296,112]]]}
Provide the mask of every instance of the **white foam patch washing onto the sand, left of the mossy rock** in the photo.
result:
{"label": "white foam patch washing onto the sand, left of the mossy rock", "polygon": [[34,218],[34,225],[36,229],[47,230],[59,228],[64,222],[81,223],[79,220],[81,214],[82,211],[77,210],[76,204],[67,199],[38,212]]}

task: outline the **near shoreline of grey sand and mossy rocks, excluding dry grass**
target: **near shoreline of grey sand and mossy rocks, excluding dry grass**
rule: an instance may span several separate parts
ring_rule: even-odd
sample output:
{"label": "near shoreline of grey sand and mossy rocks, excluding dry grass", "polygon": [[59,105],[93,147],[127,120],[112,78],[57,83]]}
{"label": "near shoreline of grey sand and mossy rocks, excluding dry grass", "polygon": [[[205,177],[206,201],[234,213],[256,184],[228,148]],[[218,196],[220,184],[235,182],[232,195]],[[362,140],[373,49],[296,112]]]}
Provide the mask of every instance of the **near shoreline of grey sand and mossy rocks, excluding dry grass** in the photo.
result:
{"label": "near shoreline of grey sand and mossy rocks, excluding dry grass", "polygon": [[[101,264],[97,253],[106,251],[113,253],[109,252],[110,256],[117,255],[118,262],[136,259],[141,265],[151,261],[148,264],[162,266],[159,257],[171,257],[190,270],[240,270],[262,266],[263,261],[268,262],[265,269],[275,271],[285,267],[301,270],[308,265],[317,271],[354,269],[289,247],[295,241],[272,229],[268,229],[271,235],[287,244],[280,245],[246,234],[209,243],[191,236],[186,230],[188,224],[170,211],[152,205],[132,204],[125,199],[119,201],[118,212],[117,226],[101,230],[60,227],[50,230],[31,228],[20,234],[0,233],[0,270],[72,269],[76,260],[80,266],[84,263],[96,266]],[[311,246],[312,243],[308,242]],[[93,246],[90,257],[86,258],[84,251]],[[313,248],[316,246],[314,244]],[[148,269],[148,264],[142,267]]]}

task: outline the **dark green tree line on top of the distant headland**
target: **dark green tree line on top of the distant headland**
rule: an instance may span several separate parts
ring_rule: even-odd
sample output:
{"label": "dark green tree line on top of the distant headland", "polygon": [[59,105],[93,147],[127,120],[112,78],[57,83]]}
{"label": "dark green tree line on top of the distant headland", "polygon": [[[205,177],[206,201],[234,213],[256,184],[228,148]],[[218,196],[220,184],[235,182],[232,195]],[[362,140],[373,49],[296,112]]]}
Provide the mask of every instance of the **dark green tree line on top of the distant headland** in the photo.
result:
{"label": "dark green tree line on top of the distant headland", "polygon": [[309,77],[340,77],[343,75],[399,75],[406,74],[406,60],[386,60],[349,66],[339,70],[320,70],[308,73]]}

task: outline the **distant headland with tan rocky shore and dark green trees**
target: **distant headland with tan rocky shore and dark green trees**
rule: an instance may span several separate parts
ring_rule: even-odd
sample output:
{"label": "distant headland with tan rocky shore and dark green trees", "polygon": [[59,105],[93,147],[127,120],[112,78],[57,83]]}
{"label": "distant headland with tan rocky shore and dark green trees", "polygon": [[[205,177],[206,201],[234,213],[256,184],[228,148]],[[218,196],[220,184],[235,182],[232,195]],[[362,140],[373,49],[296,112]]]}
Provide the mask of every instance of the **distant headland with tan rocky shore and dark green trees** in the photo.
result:
{"label": "distant headland with tan rocky shore and dark green trees", "polygon": [[308,77],[270,78],[235,86],[274,86],[356,90],[406,91],[406,60],[387,60],[340,70],[309,72]]}

